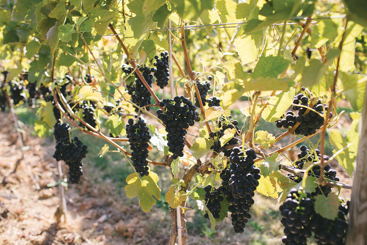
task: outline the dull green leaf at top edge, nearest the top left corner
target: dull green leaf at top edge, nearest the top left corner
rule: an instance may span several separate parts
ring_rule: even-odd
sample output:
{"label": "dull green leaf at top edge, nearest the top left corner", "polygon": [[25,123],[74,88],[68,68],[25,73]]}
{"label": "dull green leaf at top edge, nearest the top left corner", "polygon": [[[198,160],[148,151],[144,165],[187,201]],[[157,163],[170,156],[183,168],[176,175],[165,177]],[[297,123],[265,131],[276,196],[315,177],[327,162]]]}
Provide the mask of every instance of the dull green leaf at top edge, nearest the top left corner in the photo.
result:
{"label": "dull green leaf at top edge, nearest the top left corner", "polygon": [[36,4],[41,0],[18,0],[13,7],[11,20],[24,21],[33,24],[36,22]]}

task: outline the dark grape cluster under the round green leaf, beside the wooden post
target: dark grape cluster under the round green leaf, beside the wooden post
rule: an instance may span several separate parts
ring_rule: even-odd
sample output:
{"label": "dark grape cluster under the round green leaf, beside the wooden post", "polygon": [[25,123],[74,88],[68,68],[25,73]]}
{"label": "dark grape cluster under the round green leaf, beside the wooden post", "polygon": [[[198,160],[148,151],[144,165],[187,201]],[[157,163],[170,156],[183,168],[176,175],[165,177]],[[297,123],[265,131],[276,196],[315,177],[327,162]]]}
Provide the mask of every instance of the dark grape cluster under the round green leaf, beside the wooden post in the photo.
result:
{"label": "dark grape cluster under the round green leaf, beside the wooden post", "polygon": [[[311,224],[312,231],[315,233],[315,240],[318,245],[344,245],[346,229],[348,227],[347,215],[350,201],[344,202],[338,208],[338,217],[334,220],[326,219],[315,213]],[[327,229],[325,229],[327,227]]]}

